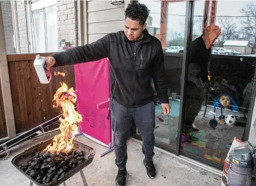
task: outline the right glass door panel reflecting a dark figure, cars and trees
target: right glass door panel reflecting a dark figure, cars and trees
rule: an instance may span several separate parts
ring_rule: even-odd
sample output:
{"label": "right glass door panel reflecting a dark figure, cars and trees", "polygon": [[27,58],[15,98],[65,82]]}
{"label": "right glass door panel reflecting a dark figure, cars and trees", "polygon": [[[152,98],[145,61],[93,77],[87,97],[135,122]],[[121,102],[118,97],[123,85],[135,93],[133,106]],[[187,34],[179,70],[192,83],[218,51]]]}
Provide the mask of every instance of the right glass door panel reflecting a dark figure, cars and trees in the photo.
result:
{"label": "right glass door panel reflecting a dark figure, cars and trees", "polygon": [[[194,22],[203,17],[196,6]],[[245,132],[256,62],[254,37],[245,31],[250,8],[256,10],[255,1],[218,1],[208,22],[212,26],[215,19],[221,33],[208,49],[193,27],[182,150],[218,164],[224,164],[234,137],[243,140]]]}

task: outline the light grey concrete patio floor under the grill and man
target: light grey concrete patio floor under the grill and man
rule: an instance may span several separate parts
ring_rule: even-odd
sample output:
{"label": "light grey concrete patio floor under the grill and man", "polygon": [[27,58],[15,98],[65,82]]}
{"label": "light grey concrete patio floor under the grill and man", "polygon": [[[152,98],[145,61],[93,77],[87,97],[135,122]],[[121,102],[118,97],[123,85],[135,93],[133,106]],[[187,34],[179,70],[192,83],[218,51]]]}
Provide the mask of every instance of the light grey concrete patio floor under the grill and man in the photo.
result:
{"label": "light grey concrete patio floor under the grill and man", "polygon": [[[56,134],[56,132],[54,132]],[[0,185],[1,186],[28,186],[29,180],[25,178],[11,164],[12,158],[18,153],[23,152],[41,141],[52,138],[55,134],[46,134],[32,140],[25,141],[19,146],[11,149],[7,160],[0,160]],[[107,147],[101,146],[85,136],[76,137],[77,141],[81,141],[86,145],[95,149],[96,154],[94,161],[88,167],[83,169],[88,186],[114,186],[117,167],[115,166],[115,153],[110,152],[100,158],[100,154],[107,150]],[[141,144],[130,140],[128,146],[128,162],[127,162],[127,186],[138,185],[186,185],[186,186],[217,186],[220,185],[220,178],[211,173],[193,167],[176,158],[170,157],[162,152],[155,150],[155,166],[158,175],[155,179],[149,179],[146,176],[146,169],[142,164],[144,158],[141,152]],[[83,185],[80,174],[74,175],[66,181],[67,186]]]}

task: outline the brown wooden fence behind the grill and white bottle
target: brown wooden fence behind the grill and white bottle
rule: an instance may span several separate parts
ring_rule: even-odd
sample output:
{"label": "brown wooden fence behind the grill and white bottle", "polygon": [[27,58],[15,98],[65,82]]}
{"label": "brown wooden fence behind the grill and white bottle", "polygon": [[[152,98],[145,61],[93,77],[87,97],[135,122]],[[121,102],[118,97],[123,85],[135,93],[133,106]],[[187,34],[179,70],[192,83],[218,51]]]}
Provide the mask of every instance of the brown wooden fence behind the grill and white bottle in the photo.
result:
{"label": "brown wooden fence behind the grill and white bottle", "polygon": [[[40,84],[33,66],[35,57],[36,54],[7,55],[16,134],[34,128],[60,114],[52,104],[54,93],[60,87],[60,81],[65,82],[68,87],[75,88],[74,66],[51,68],[53,75],[51,82]],[[66,76],[54,76],[54,72],[65,72]],[[1,97],[0,103],[0,130],[2,131],[6,126]],[[4,131],[4,134],[0,132],[0,138],[7,136],[6,129]]]}

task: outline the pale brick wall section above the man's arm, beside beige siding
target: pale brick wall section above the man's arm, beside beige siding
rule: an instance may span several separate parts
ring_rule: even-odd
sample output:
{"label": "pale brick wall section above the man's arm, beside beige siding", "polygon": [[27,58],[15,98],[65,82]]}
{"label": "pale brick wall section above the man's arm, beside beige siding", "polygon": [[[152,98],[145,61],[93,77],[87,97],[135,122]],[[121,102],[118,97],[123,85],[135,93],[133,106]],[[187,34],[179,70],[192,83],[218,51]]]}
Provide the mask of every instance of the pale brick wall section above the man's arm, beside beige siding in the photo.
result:
{"label": "pale brick wall section above the man's arm, beside beige siding", "polygon": [[59,39],[77,46],[77,4],[74,0],[57,0]]}

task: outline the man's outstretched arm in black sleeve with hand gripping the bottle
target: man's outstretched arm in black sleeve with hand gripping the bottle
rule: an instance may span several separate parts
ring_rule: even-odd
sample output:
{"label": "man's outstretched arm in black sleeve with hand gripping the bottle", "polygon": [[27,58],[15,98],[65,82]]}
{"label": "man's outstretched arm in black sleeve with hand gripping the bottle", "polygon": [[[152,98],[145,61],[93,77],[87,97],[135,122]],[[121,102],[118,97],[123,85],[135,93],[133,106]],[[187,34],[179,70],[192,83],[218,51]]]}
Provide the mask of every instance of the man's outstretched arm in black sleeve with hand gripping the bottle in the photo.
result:
{"label": "man's outstretched arm in black sleeve with hand gripping the bottle", "polygon": [[109,36],[97,42],[77,46],[65,52],[59,52],[46,58],[48,67],[65,66],[89,61],[97,61],[109,56]]}

